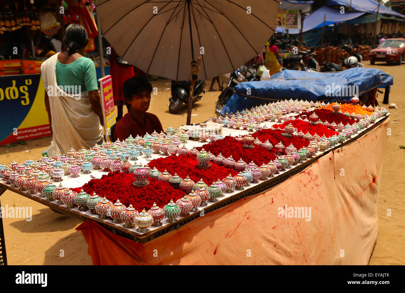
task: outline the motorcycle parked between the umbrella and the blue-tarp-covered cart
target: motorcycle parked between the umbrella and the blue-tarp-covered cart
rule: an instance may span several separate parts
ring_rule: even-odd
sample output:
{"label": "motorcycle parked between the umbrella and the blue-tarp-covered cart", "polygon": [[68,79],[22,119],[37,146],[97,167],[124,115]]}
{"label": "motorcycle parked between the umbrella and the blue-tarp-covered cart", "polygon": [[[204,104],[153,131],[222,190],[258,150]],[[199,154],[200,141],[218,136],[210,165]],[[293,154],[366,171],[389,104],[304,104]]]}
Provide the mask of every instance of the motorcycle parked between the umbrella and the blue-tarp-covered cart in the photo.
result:
{"label": "motorcycle parked between the umbrella and the blue-tarp-covered cart", "polygon": [[244,81],[254,81],[258,80],[256,78],[256,69],[258,68],[257,65],[246,66],[242,65],[236,71],[230,74],[230,80],[228,81],[226,88],[224,88],[224,83],[226,81],[222,81],[222,88],[224,90],[221,92],[220,96],[218,97],[218,101],[215,105],[215,112],[220,113],[222,108],[226,105],[229,98],[234,94],[234,88],[239,83]]}

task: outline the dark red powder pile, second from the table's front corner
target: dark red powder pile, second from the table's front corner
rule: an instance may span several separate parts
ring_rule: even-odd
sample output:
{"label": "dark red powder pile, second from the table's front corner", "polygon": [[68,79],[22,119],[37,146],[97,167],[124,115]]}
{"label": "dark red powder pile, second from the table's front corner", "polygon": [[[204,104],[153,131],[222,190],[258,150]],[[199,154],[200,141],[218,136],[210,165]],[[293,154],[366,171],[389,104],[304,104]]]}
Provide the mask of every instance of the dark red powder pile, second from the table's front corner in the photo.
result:
{"label": "dark red powder pile, second from the table's front corner", "polygon": [[237,171],[225,168],[224,166],[218,166],[212,162],[210,169],[201,169],[197,167],[197,164],[198,161],[196,155],[188,154],[184,156],[167,156],[166,158],[158,158],[152,160],[149,163],[149,167],[156,167],[160,172],[163,172],[166,169],[171,175],[177,173],[177,175],[183,179],[188,175],[194,182],[198,182],[200,178],[203,178],[203,181],[207,185],[217,181],[218,178],[222,180],[228,176],[229,173],[231,173],[232,176],[238,173]]}

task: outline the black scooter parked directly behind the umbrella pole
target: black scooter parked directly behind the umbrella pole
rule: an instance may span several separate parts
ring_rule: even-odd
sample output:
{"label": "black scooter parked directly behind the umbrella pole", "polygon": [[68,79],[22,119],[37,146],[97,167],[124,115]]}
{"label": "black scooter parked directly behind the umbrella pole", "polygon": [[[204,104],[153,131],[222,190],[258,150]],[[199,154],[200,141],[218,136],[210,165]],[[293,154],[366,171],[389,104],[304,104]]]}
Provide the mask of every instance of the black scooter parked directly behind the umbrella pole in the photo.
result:
{"label": "black scooter parked directly behind the umbrella pole", "polygon": [[[174,81],[171,83],[171,93],[172,97],[169,98],[169,112],[176,114],[180,111],[183,103],[188,104],[188,99],[190,96],[190,85],[191,81]],[[196,81],[193,90],[193,106],[194,103],[200,101],[202,94],[205,94],[205,80]],[[194,106],[195,108],[195,106]]]}

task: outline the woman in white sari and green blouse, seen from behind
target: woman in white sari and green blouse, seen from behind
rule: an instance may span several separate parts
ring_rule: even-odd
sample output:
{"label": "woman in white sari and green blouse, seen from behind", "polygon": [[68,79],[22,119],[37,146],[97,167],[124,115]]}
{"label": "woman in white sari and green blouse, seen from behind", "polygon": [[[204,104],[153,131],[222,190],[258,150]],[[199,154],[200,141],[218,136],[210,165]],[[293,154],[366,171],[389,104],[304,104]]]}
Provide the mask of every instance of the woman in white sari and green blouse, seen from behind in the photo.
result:
{"label": "woman in white sari and green blouse, seen from behind", "polygon": [[85,28],[66,28],[67,51],[56,53],[41,66],[51,147],[45,152],[68,152],[70,147],[91,148],[102,140],[102,107],[94,62],[83,57],[88,36]]}

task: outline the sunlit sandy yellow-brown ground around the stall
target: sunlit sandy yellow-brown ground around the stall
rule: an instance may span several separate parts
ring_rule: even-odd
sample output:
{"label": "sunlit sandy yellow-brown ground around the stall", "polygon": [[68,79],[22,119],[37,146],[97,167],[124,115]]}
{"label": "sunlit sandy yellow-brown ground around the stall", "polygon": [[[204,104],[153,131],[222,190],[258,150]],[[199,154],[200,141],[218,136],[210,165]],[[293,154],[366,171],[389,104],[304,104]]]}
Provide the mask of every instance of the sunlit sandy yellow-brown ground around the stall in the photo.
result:
{"label": "sunlit sandy yellow-brown ground around the stall", "polygon": [[[390,94],[390,103],[396,103],[399,109],[390,109],[391,130],[388,137],[387,148],[384,158],[381,186],[378,198],[379,235],[371,256],[370,265],[392,265],[404,264],[405,261],[405,199],[403,190],[403,165],[405,150],[399,145],[405,145],[404,121],[405,107],[403,103],[403,92],[405,92],[405,65],[394,66],[387,64],[376,64],[367,67],[379,68],[394,76],[394,86]],[[221,77],[221,81],[226,80]],[[192,123],[199,123],[212,117],[215,109],[215,101],[220,94],[208,92],[211,81],[207,81],[207,92],[196,103],[193,109]],[[178,127],[185,124],[187,109],[183,105],[182,111],[173,115],[168,112],[168,98],[170,97],[170,81],[159,79],[152,82],[153,87],[158,88],[159,94],[152,96],[149,112],[158,115],[163,128],[169,125]],[[214,89],[218,89],[217,84]],[[378,101],[382,104],[383,94],[380,94]],[[125,107],[124,107],[125,108]],[[126,109],[124,109],[126,113]],[[0,162],[9,164],[12,160],[18,162],[40,158],[40,152],[47,148],[51,138],[46,137],[33,141],[27,141],[25,145],[14,147],[0,147]],[[21,218],[4,218],[5,246],[7,250],[7,261],[10,265],[91,265],[92,261],[87,254],[87,244],[80,232],[75,228],[81,221],[56,214],[48,207],[31,201],[13,192],[6,191],[1,197],[1,204],[32,207],[32,221]],[[391,216],[387,216],[387,209],[391,210]],[[4,244],[4,243],[3,243]]]}

